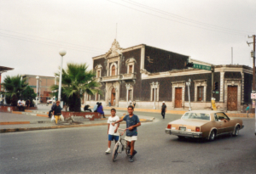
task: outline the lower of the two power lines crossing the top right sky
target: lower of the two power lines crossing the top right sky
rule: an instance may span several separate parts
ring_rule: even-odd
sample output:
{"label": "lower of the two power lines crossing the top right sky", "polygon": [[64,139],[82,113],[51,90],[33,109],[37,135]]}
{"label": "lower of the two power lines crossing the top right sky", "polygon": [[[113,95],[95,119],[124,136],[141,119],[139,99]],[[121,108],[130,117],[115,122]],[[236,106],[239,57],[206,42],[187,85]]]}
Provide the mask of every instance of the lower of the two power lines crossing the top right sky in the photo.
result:
{"label": "lower of the two power lines crossing the top right sky", "polygon": [[[109,2],[111,2],[111,3],[115,3],[115,2],[110,1],[110,0],[107,0],[107,1],[109,1]],[[121,4],[121,3],[116,3],[116,4],[118,4],[118,5],[120,5],[120,6],[124,6],[125,8],[131,8],[131,7],[126,6],[126,5],[123,5],[123,4]],[[161,19],[171,20],[171,19],[168,19],[168,18],[165,18],[165,17],[161,17],[161,16],[159,16],[159,15],[155,15],[155,14],[150,14],[150,13],[148,13],[148,12],[144,12],[144,11],[139,10],[139,9],[136,9],[136,8],[131,8],[131,9],[136,10],[136,11],[139,11],[139,12],[142,12],[142,13],[144,13],[144,14],[153,15],[153,16],[158,17],[158,18],[161,18]],[[177,20],[171,20],[171,21],[174,21],[174,22],[177,22],[177,23],[180,23],[180,24],[183,24],[183,25],[194,26],[194,27],[201,28],[201,29],[204,29],[204,30],[207,30],[207,31],[217,31],[217,32],[223,32],[223,33],[228,33],[228,34],[237,35],[237,36],[245,36],[245,35],[242,35],[241,33],[235,32],[235,31],[231,31],[231,32],[233,32],[233,33],[230,33],[230,31],[219,31],[219,29],[218,29],[218,30],[214,30],[214,29],[204,28],[204,27],[201,27],[201,26],[191,25],[191,24],[187,24],[187,23],[184,23],[184,22],[181,22],[181,21],[177,21]]]}

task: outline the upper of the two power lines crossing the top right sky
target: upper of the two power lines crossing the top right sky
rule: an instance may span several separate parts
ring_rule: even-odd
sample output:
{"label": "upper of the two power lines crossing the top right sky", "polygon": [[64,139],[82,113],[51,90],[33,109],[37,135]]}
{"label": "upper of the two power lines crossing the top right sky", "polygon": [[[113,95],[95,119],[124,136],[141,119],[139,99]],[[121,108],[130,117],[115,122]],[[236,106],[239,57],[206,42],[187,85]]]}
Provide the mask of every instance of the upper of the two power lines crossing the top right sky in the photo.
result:
{"label": "upper of the two power lines crossing the top right sky", "polygon": [[[160,14],[166,14],[166,15],[172,16],[172,17],[180,19],[180,20],[186,20],[186,21],[191,22],[191,23],[197,23],[197,24],[200,24],[200,25],[206,25],[206,26],[210,26],[210,27],[215,27],[215,28],[219,28],[221,30],[239,31],[239,30],[234,30],[234,29],[230,29],[230,28],[225,28],[223,26],[207,24],[207,23],[204,23],[204,22],[201,22],[201,21],[197,21],[197,20],[191,20],[189,18],[185,18],[185,17],[177,15],[177,14],[172,14],[172,13],[163,11],[163,10],[158,9],[158,8],[149,7],[149,6],[147,6],[147,5],[143,4],[143,3],[137,3],[137,2],[134,2],[134,1],[131,1],[131,0],[128,0],[130,2],[127,2],[125,0],[122,0],[122,1],[124,1],[125,3],[130,3],[131,2],[131,4],[133,4],[133,5],[136,5],[136,6],[139,6],[139,7],[142,7],[142,8],[147,8],[147,9],[150,9],[152,11],[158,12]],[[239,31],[239,32],[251,33],[250,31]]]}

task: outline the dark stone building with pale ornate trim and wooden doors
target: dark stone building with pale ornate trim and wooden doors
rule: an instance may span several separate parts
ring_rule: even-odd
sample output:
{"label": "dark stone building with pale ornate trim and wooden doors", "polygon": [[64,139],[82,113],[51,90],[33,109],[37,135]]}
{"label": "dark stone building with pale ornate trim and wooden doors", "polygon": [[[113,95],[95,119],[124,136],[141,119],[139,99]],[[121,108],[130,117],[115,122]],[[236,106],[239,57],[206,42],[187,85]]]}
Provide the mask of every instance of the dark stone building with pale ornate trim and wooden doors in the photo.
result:
{"label": "dark stone building with pale ornate trim and wooden doors", "polygon": [[[167,109],[189,109],[186,82],[191,80],[190,104],[192,109],[211,109],[212,86],[218,82],[218,93],[213,94],[219,110],[242,111],[250,104],[253,70],[245,65],[211,65],[145,44],[120,48],[114,40],[108,53],[96,56],[93,67],[97,81],[102,83],[103,95],[85,96],[86,104],[126,107],[136,101],[138,108],[160,109],[162,101]],[[212,66],[212,71],[188,68],[197,65]]]}

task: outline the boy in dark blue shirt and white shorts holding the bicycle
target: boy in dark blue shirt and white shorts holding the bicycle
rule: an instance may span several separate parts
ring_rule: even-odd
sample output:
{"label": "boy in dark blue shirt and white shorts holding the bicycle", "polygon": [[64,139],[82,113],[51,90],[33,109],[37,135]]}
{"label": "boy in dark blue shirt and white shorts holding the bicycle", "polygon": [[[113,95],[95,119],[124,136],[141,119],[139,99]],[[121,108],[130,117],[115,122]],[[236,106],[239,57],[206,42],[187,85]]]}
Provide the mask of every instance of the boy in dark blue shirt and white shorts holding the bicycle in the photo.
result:
{"label": "boy in dark blue shirt and white shorts holding the bicycle", "polygon": [[137,154],[137,151],[134,149],[135,141],[137,141],[137,126],[141,126],[141,122],[137,115],[133,114],[133,106],[128,106],[127,108],[129,115],[125,115],[123,119],[112,123],[119,123],[121,121],[126,121],[126,136],[125,140],[127,141],[127,145],[130,147],[131,156],[129,158],[130,162],[133,162],[133,156]]}

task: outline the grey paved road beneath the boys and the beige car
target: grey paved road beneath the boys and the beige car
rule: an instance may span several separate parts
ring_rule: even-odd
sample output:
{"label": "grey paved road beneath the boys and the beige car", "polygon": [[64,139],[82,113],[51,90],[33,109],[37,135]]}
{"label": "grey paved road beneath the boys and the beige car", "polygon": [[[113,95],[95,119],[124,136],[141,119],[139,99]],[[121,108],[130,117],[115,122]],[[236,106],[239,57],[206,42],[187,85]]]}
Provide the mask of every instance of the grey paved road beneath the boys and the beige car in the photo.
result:
{"label": "grey paved road beneath the boys and the beige car", "polygon": [[[254,119],[236,138],[214,142],[178,140],[165,134],[180,115],[151,115],[138,127],[133,163],[125,154],[113,162],[107,149],[107,126],[0,134],[0,173],[255,173]],[[125,126],[125,125],[122,125]],[[112,144],[113,148],[113,144]]]}

